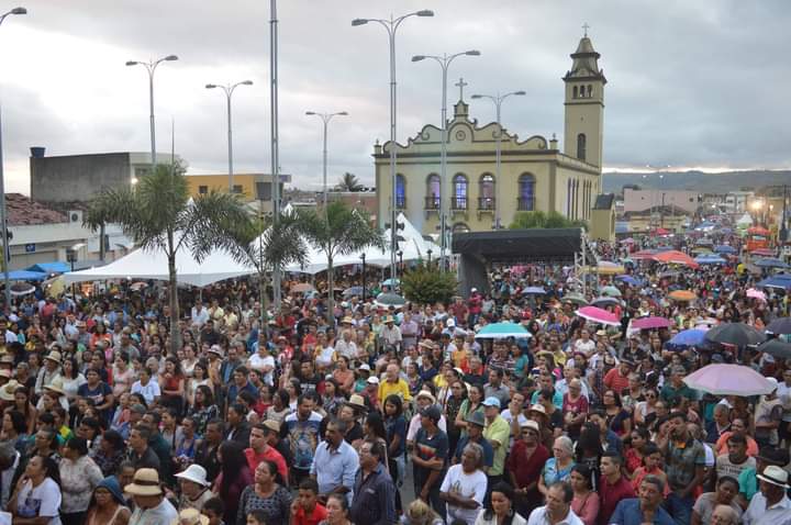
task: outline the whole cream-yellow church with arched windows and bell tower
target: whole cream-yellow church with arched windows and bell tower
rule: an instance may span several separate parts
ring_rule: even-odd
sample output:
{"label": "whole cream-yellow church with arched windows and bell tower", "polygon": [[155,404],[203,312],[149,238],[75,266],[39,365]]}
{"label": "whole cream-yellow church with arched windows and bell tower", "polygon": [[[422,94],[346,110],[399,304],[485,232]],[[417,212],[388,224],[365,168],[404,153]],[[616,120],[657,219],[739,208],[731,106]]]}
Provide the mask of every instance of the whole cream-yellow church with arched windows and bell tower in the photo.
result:
{"label": "whole cream-yellow church with arched windows and bell tower", "polygon": [[[374,148],[378,222],[391,215],[390,147],[397,150],[396,206],[424,235],[438,233],[439,210],[449,210],[453,231],[486,231],[508,226],[520,211],[557,211],[588,220],[601,191],[603,158],[604,72],[599,53],[583,36],[571,54],[565,83],[562,148],[554,137],[533,135],[521,141],[497,122],[478,126],[470,120],[463,94],[447,122],[447,180],[441,185],[442,130],[426,125],[405,145],[389,142]],[[463,82],[459,82],[463,85]],[[501,136],[500,180],[497,142]],[[441,186],[447,188],[441,206]]]}

